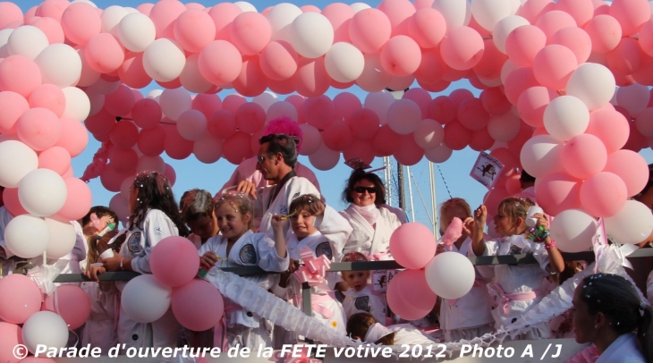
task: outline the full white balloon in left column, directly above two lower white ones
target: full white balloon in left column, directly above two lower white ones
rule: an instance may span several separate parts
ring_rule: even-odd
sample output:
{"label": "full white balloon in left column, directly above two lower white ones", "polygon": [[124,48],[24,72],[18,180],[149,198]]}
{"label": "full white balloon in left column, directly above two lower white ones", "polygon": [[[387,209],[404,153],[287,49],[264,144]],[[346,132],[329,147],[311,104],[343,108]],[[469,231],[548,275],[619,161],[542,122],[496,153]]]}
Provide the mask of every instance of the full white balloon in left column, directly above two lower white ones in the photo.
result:
{"label": "full white balloon in left column, directly above two lower white ones", "polygon": [[18,198],[31,215],[54,215],[62,207],[68,189],[64,179],[50,169],[37,169],[28,173],[18,185]]}

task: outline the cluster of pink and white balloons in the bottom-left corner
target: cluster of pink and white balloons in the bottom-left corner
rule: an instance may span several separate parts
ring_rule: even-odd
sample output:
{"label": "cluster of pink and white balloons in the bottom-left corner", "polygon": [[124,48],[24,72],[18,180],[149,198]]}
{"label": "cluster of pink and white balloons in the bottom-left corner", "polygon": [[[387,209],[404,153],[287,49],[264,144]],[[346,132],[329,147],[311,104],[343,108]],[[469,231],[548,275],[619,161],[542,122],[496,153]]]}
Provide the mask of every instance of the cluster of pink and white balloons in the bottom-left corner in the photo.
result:
{"label": "cluster of pink and white balloons in the bottom-left corner", "polygon": [[64,348],[69,330],[79,328],[89,319],[89,296],[75,285],[60,285],[43,299],[43,293],[30,277],[10,274],[0,279],[0,294],[12,296],[0,302],[3,362],[22,361],[15,356],[17,344],[24,344],[31,353],[35,353],[38,344]]}

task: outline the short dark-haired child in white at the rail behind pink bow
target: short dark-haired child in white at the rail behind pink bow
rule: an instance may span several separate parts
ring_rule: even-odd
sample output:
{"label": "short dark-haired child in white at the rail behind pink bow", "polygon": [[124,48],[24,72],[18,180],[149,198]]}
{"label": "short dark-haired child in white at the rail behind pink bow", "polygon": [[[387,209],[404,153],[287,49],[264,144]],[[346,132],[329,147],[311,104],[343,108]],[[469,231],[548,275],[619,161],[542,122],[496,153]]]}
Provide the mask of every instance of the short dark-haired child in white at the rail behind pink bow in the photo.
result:
{"label": "short dark-haired child in white at the rail behind pink bow", "polygon": [[[291,231],[286,237],[288,255],[291,258],[291,272],[296,271],[302,257],[325,256],[329,261],[339,261],[343,252],[344,241],[352,232],[352,227],[335,211],[334,208],[325,206],[318,196],[307,194],[294,198],[290,205]],[[319,221],[318,221],[319,220]],[[322,231],[325,234],[322,234]],[[277,295],[285,299],[292,299],[297,308],[301,308],[301,280],[302,271],[291,274],[286,282],[282,280],[280,286],[285,289]],[[285,276],[282,276],[284,279]],[[313,317],[324,325],[330,326],[344,334],[346,317],[343,306],[335,299],[333,288],[337,282],[337,273],[327,272],[322,276],[326,280],[310,289],[310,298]],[[293,340],[293,334],[288,335]]]}

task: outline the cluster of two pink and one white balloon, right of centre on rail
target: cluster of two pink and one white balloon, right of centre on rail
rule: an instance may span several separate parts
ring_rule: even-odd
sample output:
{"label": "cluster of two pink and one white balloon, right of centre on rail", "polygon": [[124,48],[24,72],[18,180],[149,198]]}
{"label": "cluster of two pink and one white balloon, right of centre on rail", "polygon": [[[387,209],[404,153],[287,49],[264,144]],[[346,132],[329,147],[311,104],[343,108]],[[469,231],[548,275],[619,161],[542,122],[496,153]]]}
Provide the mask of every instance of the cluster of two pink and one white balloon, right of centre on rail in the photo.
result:
{"label": "cluster of two pink and one white balloon, right of centre on rail", "polygon": [[406,270],[394,275],[386,298],[393,312],[407,320],[426,317],[437,296],[459,299],[476,277],[469,258],[457,252],[436,255],[436,239],[424,224],[402,224],[390,236],[390,253]]}

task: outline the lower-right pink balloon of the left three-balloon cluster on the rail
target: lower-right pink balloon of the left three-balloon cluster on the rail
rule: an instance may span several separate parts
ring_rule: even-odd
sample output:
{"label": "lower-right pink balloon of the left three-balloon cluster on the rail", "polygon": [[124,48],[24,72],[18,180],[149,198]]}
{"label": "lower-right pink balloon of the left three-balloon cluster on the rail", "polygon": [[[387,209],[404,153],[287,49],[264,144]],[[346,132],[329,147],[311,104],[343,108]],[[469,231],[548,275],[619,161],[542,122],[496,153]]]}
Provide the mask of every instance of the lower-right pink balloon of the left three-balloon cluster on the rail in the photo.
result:
{"label": "lower-right pink balloon of the left three-balloon cluster on the rail", "polygon": [[211,283],[202,280],[191,280],[174,289],[171,307],[177,321],[196,332],[217,325],[225,312],[220,292]]}

